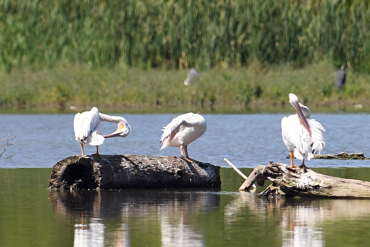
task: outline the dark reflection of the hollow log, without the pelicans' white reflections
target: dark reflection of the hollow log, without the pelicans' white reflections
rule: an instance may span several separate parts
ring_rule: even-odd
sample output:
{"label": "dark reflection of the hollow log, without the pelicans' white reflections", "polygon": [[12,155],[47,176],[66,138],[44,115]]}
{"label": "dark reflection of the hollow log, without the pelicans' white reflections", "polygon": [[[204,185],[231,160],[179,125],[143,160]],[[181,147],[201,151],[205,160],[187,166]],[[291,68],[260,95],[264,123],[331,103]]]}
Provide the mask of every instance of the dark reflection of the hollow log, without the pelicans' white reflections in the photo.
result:
{"label": "dark reflection of the hollow log, without the pelicans' white reflections", "polygon": [[[216,193],[212,193],[212,192]],[[207,208],[219,207],[219,189],[166,189],[166,190],[50,190],[53,211],[62,217],[75,217],[86,213],[92,217],[117,217],[128,219],[134,216],[158,215],[165,209],[168,215],[173,210],[185,210],[186,214],[204,212]]]}

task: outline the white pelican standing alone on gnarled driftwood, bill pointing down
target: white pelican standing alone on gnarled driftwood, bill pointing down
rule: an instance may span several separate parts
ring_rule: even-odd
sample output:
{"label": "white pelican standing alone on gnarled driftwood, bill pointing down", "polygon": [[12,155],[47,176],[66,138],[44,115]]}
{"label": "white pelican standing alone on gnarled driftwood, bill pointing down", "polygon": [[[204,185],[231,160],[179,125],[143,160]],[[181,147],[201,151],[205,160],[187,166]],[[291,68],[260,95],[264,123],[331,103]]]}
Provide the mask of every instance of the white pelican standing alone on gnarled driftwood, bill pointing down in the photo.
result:
{"label": "white pelican standing alone on gnarled driftwood, bill pointing down", "polygon": [[290,167],[293,165],[293,152],[297,159],[310,160],[314,154],[320,154],[325,145],[322,131],[324,127],[314,119],[309,119],[311,113],[308,107],[299,103],[298,97],[289,93],[289,102],[296,109],[297,114],[283,117],[281,120],[282,137],[290,154]]}

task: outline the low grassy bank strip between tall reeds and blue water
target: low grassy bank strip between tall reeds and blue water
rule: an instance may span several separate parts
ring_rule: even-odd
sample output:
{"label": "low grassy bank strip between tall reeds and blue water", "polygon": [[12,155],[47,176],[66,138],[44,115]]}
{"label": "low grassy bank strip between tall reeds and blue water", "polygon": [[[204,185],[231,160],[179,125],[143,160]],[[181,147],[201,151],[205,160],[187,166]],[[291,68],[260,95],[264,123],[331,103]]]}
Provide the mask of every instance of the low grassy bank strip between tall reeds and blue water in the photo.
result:
{"label": "low grassy bank strip between tall reeds and blue water", "polygon": [[[187,70],[140,69],[87,64],[34,71],[0,71],[0,109],[126,112],[247,112],[292,110],[295,93],[311,110],[370,111],[370,75],[348,71],[343,90],[334,88],[329,62],[301,69],[254,62],[248,67],[199,71],[185,86]],[[362,108],[356,107],[361,104]]]}

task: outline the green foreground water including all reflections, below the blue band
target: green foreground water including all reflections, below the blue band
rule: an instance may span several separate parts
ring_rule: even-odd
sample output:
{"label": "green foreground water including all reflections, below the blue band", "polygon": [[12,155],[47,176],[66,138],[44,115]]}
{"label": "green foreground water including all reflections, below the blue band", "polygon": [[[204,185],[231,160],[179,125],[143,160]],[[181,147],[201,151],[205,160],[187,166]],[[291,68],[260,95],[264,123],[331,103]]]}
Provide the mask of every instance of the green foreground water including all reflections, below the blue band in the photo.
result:
{"label": "green foreground water including all reflections, below the blue band", "polygon": [[[315,171],[370,180],[370,168]],[[0,246],[370,244],[370,200],[268,201],[238,192],[243,179],[231,168],[221,168],[222,188],[208,191],[50,191],[50,173],[0,169]]]}

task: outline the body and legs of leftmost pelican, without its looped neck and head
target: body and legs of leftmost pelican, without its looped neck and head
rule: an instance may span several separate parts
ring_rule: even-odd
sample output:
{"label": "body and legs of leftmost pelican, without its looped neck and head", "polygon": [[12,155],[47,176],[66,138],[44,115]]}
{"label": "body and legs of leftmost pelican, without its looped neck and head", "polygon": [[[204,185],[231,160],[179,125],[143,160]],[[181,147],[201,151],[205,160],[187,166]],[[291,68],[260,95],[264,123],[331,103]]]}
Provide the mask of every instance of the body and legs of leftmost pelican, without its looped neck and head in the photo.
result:
{"label": "body and legs of leftmost pelican, without its looped neck and head", "polygon": [[96,146],[96,155],[99,154],[98,146],[103,144],[104,137],[100,135],[99,110],[96,107],[88,112],[76,113],[73,119],[74,136],[80,142],[82,156],[84,144]]}

